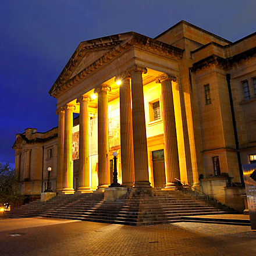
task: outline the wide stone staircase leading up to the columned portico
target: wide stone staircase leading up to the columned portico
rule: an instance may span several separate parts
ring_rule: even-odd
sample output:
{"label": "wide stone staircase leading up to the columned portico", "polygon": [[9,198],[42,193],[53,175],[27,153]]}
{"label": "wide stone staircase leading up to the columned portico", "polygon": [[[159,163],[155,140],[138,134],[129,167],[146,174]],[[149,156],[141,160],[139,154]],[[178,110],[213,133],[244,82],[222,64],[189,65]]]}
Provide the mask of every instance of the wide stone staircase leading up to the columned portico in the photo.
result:
{"label": "wide stone staircase leading up to the columned portico", "polygon": [[47,202],[40,200],[13,209],[10,218],[42,216],[81,221],[152,225],[182,221],[184,216],[226,214],[204,198],[195,199],[183,191],[129,189],[116,201],[104,201],[104,193],[58,195]]}

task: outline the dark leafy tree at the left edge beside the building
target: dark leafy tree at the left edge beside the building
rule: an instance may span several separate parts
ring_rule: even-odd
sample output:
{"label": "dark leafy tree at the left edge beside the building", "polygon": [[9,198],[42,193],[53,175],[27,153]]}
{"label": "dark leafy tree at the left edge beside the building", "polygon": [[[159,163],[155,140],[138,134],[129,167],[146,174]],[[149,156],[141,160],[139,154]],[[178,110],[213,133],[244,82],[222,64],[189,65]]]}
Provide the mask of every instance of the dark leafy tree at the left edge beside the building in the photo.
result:
{"label": "dark leafy tree at the left edge beside the building", "polygon": [[9,163],[0,162],[0,203],[18,200],[18,183],[15,178],[15,171]]}

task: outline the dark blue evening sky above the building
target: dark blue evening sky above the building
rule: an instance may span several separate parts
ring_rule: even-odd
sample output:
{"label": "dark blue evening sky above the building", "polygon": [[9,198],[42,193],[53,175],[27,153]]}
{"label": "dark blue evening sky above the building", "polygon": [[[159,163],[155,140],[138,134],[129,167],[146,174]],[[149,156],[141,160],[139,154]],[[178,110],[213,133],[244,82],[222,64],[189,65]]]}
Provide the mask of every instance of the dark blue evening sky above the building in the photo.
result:
{"label": "dark blue evening sky above the building", "polygon": [[256,30],[254,0],[0,0],[0,162],[15,134],[58,124],[48,91],[80,41],[127,31],[155,37],[186,20],[230,41]]}

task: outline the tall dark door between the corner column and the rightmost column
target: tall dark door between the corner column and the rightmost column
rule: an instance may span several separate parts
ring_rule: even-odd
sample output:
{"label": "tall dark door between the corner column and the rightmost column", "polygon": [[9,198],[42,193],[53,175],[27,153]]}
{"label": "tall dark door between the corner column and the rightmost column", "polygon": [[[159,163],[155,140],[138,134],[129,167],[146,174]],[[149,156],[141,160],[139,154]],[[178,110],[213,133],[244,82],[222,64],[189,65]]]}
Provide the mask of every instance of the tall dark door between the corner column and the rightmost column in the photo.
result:
{"label": "tall dark door between the corner column and the rightmost column", "polygon": [[165,156],[163,150],[152,151],[154,185],[155,187],[165,187]]}

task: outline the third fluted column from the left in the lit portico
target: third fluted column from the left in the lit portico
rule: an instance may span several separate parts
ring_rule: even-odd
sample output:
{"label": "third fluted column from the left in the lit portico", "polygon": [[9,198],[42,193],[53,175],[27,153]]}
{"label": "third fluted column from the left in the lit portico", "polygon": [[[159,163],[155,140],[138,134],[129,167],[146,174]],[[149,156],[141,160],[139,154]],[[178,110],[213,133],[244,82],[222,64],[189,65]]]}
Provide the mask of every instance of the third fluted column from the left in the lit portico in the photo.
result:
{"label": "third fluted column from the left in the lit portico", "polygon": [[80,103],[79,115],[79,187],[78,193],[92,192],[90,188],[90,166],[89,166],[89,134],[88,134],[88,101],[91,98],[83,95],[77,99]]}

